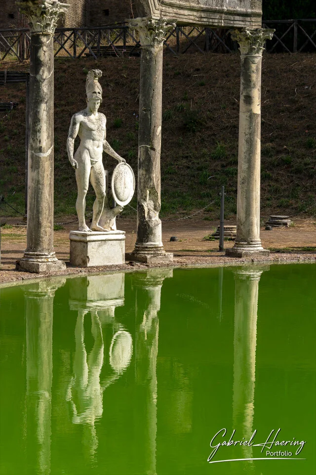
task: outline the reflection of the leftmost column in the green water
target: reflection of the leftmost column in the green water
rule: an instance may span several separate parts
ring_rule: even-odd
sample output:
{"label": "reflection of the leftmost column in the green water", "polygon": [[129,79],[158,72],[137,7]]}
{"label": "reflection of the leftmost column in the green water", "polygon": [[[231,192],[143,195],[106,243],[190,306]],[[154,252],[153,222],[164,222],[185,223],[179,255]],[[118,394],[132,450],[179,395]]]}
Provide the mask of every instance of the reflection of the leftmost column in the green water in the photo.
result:
{"label": "reflection of the leftmost column in the green water", "polygon": [[[34,473],[50,474],[52,338],[55,290],[66,279],[55,278],[28,285],[26,317],[26,438]],[[36,450],[34,450],[36,447]]]}

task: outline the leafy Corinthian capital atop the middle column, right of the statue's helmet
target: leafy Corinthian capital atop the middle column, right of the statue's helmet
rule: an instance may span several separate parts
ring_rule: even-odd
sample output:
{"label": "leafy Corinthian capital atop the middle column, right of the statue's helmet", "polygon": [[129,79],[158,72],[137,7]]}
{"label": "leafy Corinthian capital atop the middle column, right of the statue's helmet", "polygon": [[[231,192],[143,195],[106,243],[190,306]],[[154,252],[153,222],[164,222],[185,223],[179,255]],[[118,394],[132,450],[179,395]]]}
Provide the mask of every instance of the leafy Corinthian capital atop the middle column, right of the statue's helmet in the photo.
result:
{"label": "leafy Corinthian capital atop the middle column, right of the statue's helmet", "polygon": [[166,34],[176,26],[176,22],[165,18],[135,18],[129,20],[130,28],[135,28],[142,46],[162,46]]}

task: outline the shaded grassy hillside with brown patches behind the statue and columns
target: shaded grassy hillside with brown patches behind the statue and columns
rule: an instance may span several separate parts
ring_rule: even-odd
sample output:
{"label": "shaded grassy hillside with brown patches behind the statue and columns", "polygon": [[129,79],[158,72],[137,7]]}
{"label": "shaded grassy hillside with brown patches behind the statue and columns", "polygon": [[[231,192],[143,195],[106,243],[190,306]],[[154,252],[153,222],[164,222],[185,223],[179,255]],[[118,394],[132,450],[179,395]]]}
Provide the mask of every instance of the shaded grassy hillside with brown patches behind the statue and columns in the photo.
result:
{"label": "shaded grassy hillside with brown patches behind the statue and columns", "polygon": [[[85,68],[103,71],[107,139],[137,172],[139,58],[55,61],[55,214],[75,213],[77,185],[66,151],[71,116],[85,107]],[[166,55],[163,73],[161,215],[236,213],[239,56]],[[27,70],[7,62],[1,69]],[[23,210],[25,85],[0,86],[1,101],[19,102],[0,117],[0,194]],[[268,55],[262,74],[261,214],[316,215],[316,55]],[[104,157],[106,168],[116,164]],[[89,192],[91,210],[93,192]],[[131,203],[134,207],[136,199]],[[1,214],[7,211],[1,208]],[[126,207],[125,214],[134,211]]]}

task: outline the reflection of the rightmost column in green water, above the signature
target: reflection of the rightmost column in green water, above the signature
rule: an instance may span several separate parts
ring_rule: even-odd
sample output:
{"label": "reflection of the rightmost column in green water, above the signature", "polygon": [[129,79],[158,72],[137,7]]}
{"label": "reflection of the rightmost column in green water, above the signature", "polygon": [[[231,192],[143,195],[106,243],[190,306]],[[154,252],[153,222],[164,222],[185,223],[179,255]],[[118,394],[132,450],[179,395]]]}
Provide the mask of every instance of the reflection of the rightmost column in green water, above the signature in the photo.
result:
{"label": "reflection of the rightmost column in green water, above the signature", "polygon": [[[233,427],[236,440],[249,440],[254,431],[254,392],[257,345],[258,288],[269,266],[237,269],[235,275]],[[252,458],[252,447],[242,446],[242,457]],[[253,462],[247,462],[250,471]]]}

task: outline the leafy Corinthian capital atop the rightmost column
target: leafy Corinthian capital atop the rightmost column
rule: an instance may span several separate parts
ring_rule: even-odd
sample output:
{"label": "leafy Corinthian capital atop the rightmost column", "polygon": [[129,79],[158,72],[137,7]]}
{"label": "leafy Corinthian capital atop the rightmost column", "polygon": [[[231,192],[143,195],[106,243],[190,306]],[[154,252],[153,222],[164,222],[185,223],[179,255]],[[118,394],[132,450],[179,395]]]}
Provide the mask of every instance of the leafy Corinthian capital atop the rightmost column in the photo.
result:
{"label": "leafy Corinthian capital atop the rightmost column", "polygon": [[231,36],[233,40],[239,43],[239,50],[242,56],[262,56],[264,44],[271,40],[276,30],[258,28],[249,30],[233,30]]}

